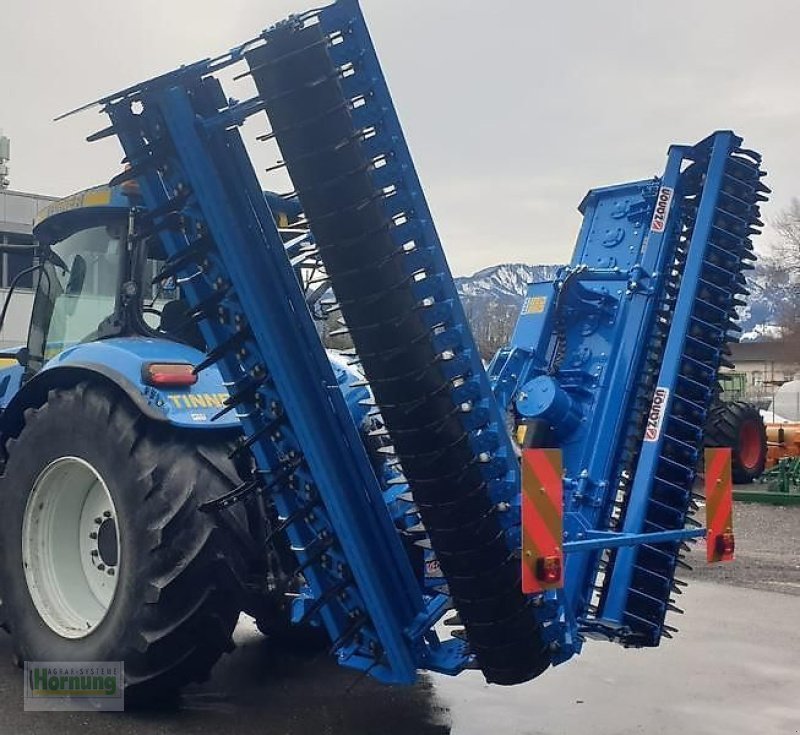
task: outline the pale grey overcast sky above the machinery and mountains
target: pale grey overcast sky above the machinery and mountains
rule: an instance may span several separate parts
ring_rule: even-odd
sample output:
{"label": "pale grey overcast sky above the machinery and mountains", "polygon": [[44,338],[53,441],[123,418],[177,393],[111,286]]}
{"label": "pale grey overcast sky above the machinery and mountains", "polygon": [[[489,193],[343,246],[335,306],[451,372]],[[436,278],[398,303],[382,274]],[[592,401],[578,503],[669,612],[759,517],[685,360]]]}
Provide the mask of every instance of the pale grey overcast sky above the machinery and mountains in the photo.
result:
{"label": "pale grey overcast sky above the machinery and mountains", "polygon": [[[54,116],[314,4],[2,0],[12,188],[108,180],[116,142],[84,140],[105,120]],[[659,174],[670,143],[718,128],[763,153],[767,219],[800,195],[797,0],[362,4],[456,274],[567,260],[587,189]]]}

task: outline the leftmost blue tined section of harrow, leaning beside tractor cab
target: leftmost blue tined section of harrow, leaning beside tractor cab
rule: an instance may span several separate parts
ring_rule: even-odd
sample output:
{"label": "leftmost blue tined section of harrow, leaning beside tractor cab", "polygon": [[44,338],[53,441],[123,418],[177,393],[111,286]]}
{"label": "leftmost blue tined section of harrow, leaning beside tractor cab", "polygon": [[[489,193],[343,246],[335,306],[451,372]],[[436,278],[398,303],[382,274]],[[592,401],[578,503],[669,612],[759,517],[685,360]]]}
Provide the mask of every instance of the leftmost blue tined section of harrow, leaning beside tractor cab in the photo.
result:
{"label": "leftmost blue tined section of harrow, leaning beside tractor cab", "polygon": [[[245,433],[239,449],[255,462],[251,478],[206,510],[224,513],[237,502],[274,510],[283,520],[269,528],[268,514],[262,535],[287,537],[297,562],[290,576],[302,575],[308,603],[304,620],[322,622],[344,664],[412,681],[426,648],[404,631],[425,614],[425,600],[238,131],[219,121],[204,73],[145,83],[106,110],[134,167],[147,163],[138,180],[149,210],[181,214],[179,227],[161,231],[166,267],[192,275],[182,291],[208,346],[197,370],[219,366],[230,392],[220,413],[236,411]],[[281,294],[273,305],[282,314],[252,308],[265,288]],[[315,420],[327,428],[312,430]]]}

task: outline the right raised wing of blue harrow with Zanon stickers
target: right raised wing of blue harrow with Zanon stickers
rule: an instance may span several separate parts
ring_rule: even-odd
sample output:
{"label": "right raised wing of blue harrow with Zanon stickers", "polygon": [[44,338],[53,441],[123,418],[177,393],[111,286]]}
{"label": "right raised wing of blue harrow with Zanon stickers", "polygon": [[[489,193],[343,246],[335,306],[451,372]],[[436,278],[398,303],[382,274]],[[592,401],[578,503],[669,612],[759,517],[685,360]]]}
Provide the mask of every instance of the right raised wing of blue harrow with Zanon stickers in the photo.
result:
{"label": "right raised wing of blue harrow with Zanon stickers", "polygon": [[[660,179],[591,191],[572,263],[533,284],[489,368],[528,446],[564,461],[565,626],[630,646],[675,631],[703,426],[755,260],[760,157],[730,132]],[[563,648],[559,655],[574,652]]]}

